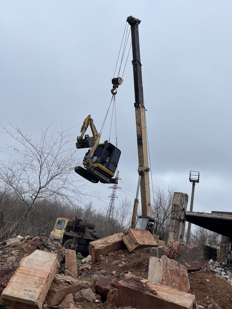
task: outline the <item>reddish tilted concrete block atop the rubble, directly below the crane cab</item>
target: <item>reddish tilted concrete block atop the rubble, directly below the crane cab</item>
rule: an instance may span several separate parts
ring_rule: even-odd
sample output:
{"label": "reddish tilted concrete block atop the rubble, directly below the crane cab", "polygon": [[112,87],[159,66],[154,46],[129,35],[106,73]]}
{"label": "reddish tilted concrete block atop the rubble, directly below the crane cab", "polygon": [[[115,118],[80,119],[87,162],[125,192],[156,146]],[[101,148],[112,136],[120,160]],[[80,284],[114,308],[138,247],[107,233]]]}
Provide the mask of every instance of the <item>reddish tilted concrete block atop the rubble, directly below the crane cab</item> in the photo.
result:
{"label": "reddish tilted concrete block atop the rubble, directly below the crane cab", "polygon": [[146,247],[158,247],[157,241],[149,231],[128,229],[125,235],[122,235],[122,240],[129,252]]}

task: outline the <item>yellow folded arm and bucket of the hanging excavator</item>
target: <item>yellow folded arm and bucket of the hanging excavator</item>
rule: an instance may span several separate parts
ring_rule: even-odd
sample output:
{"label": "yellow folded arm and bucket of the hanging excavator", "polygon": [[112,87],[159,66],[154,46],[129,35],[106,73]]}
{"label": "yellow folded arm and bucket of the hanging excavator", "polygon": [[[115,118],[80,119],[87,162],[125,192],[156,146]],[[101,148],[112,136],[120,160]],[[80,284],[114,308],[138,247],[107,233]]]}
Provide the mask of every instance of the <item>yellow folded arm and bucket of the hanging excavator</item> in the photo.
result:
{"label": "yellow folded arm and bucket of the hanging excavator", "polygon": [[[92,131],[92,135],[93,135],[92,137],[88,136],[88,134],[85,135],[86,130],[88,129],[89,125],[90,125],[90,129]],[[94,147],[94,150],[95,150],[97,148],[98,144],[99,144],[100,134],[97,132],[97,129],[95,128],[95,125],[93,124],[93,120],[91,118],[91,115],[88,115],[85,118],[83,125],[80,129],[80,133],[81,133],[80,136],[77,138],[76,148],[77,149],[92,148],[93,146],[95,146]],[[85,135],[85,137],[84,137],[84,135]],[[92,151],[90,151],[90,152],[92,152]],[[90,156],[88,155],[88,157],[90,157]]]}

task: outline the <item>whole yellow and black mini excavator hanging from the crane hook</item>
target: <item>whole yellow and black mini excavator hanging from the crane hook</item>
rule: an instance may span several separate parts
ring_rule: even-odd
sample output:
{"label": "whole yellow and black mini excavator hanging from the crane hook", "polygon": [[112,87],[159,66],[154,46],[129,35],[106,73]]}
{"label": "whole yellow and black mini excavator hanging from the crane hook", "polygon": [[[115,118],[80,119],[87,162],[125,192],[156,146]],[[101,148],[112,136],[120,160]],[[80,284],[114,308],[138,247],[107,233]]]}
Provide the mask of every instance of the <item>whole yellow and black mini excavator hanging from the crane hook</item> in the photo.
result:
{"label": "whole yellow and black mini excavator hanging from the crane hook", "polygon": [[[85,135],[90,126],[92,137]],[[76,166],[75,172],[90,182],[103,184],[117,184],[118,179],[114,173],[118,166],[121,151],[113,144],[105,141],[100,144],[100,134],[97,132],[91,115],[88,115],[81,127],[81,135],[77,138],[76,148],[90,148],[83,159],[83,165]],[[85,135],[85,137],[84,137]],[[84,138],[83,138],[84,137]]]}

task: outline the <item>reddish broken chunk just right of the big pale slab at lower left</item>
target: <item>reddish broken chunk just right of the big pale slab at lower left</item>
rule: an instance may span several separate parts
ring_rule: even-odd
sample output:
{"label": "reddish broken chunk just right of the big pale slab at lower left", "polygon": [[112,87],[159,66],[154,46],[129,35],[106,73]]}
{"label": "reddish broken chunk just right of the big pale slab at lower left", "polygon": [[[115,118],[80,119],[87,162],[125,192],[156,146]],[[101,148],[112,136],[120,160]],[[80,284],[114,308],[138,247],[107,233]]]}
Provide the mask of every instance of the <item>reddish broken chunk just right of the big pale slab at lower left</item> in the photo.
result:
{"label": "reddish broken chunk just right of the big pale slab at lower left", "polygon": [[45,301],[50,306],[56,306],[65,299],[67,294],[79,292],[80,286],[81,283],[77,279],[69,276],[55,275]]}

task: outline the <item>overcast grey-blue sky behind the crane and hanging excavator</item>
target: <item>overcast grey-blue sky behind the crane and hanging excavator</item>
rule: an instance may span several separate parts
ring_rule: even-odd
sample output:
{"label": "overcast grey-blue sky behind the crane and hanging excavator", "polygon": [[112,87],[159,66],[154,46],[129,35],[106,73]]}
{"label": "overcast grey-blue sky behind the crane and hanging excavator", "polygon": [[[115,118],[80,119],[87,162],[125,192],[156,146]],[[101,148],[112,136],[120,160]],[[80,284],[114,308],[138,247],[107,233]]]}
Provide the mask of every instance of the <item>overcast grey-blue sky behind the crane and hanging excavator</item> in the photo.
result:
{"label": "overcast grey-blue sky behind the crane and hanging excavator", "polygon": [[[37,138],[40,128],[100,129],[126,18],[141,19],[140,53],[154,190],[191,195],[194,210],[231,210],[231,1],[1,1],[0,102],[4,125]],[[132,54],[116,96],[122,191],[133,200],[137,145]],[[109,121],[102,139],[108,138]],[[2,133],[1,133],[2,134]],[[6,141],[0,135],[1,146]],[[114,142],[114,140],[112,140]],[[76,158],[84,156],[78,150]],[[6,158],[6,153],[0,154]],[[107,185],[99,190],[106,207]]]}

